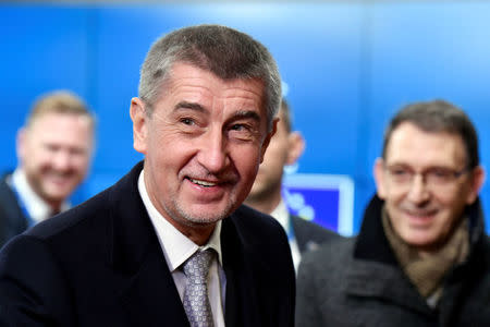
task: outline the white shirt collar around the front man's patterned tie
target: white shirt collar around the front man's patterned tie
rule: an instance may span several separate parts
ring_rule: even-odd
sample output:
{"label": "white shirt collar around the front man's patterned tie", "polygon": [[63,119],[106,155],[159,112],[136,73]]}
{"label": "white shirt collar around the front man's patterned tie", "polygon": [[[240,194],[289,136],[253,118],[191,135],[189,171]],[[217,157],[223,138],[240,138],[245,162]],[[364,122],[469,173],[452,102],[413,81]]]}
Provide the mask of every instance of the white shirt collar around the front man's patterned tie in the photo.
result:
{"label": "white shirt collar around the front man's patterned tie", "polygon": [[183,233],[181,233],[175,227],[173,227],[173,225],[170,223],[154,206],[145,186],[144,170],[142,170],[142,172],[139,173],[138,191],[146,210],[148,211],[151,223],[154,225],[155,231],[160,242],[160,246],[163,250],[163,255],[171,272],[179,268],[199,249],[213,249],[218,254],[219,264],[222,265],[220,239],[221,220],[216,223],[215,230],[212,231],[208,243],[199,246],[188,238],[186,238]]}

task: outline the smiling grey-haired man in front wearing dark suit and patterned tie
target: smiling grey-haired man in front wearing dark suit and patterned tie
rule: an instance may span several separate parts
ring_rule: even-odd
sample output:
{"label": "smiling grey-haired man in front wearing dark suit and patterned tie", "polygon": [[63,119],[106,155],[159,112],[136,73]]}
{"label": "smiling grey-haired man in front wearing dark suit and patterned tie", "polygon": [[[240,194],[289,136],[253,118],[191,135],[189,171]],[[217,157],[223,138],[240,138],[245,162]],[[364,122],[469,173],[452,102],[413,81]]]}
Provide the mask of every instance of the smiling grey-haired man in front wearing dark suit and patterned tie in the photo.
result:
{"label": "smiling grey-haired man in front wearing dark suit and patterned tie", "polygon": [[158,39],[131,101],[144,162],[2,250],[0,322],[293,326],[286,235],[241,206],[275,129],[280,83],[269,51],[237,31]]}

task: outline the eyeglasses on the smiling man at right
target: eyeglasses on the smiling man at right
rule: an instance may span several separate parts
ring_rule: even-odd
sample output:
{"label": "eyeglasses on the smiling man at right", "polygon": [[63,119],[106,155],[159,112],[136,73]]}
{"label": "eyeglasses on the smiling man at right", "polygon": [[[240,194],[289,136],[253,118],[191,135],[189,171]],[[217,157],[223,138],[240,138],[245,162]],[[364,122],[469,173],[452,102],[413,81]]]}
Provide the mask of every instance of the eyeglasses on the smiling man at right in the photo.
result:
{"label": "eyeglasses on the smiling man at right", "polygon": [[427,186],[448,186],[454,183],[461,175],[469,171],[468,167],[461,170],[451,168],[430,168],[426,171],[416,172],[408,167],[403,166],[385,166],[384,169],[394,183],[399,185],[409,185],[413,183],[416,175],[421,175],[422,181]]}

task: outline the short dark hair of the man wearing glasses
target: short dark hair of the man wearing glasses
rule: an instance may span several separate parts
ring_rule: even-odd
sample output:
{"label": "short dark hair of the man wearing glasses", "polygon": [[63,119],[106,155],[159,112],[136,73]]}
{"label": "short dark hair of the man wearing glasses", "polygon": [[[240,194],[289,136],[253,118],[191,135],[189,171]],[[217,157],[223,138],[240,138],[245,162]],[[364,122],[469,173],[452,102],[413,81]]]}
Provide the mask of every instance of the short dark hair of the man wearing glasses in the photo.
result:
{"label": "short dark hair of the man wearing glasses", "polygon": [[478,135],[474,124],[462,109],[444,100],[415,102],[403,107],[392,118],[384,132],[383,158],[393,131],[403,122],[411,122],[426,132],[460,135],[466,148],[467,168],[479,165]]}

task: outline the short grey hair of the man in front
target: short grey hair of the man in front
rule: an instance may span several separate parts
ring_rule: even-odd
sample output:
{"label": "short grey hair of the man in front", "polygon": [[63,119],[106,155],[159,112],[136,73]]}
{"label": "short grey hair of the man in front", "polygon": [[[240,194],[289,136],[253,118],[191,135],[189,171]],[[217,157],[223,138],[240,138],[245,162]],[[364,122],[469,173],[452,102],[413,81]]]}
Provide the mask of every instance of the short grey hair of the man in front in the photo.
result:
{"label": "short grey hair of the man in front", "polygon": [[250,36],[220,25],[198,25],[176,29],[157,39],[140,70],[138,96],[148,107],[161,97],[169,72],[176,62],[209,71],[222,78],[265,83],[265,105],[269,129],[281,102],[281,77],[267,48]]}

